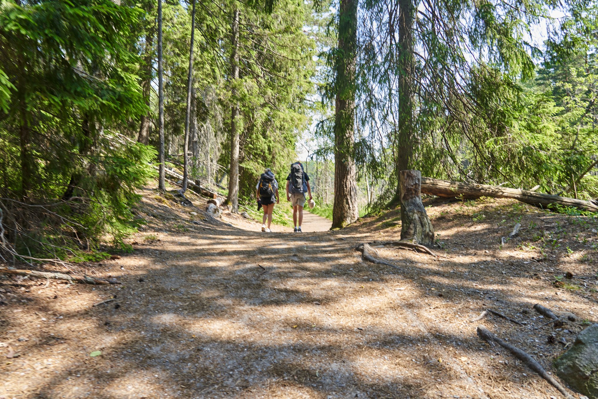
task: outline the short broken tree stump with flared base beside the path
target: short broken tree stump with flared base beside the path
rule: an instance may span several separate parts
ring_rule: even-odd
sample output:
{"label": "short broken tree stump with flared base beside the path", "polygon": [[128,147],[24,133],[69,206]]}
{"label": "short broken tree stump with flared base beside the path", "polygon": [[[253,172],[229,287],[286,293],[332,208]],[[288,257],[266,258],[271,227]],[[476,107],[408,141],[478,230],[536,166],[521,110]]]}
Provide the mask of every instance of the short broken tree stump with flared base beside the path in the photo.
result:
{"label": "short broken tree stump with flared base beside the path", "polygon": [[434,244],[434,227],[422,203],[422,172],[401,170],[399,176],[401,178],[401,240],[431,246]]}

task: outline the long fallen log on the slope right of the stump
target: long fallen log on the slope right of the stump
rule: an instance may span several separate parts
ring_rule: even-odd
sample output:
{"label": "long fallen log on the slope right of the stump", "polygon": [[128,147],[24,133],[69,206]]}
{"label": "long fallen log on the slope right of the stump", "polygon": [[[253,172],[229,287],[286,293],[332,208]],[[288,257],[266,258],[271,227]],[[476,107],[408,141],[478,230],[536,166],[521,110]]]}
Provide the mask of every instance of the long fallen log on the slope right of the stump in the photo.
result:
{"label": "long fallen log on the slope right of the stump", "polygon": [[445,198],[457,196],[463,196],[465,199],[475,199],[479,197],[512,198],[543,208],[546,208],[551,204],[559,204],[598,212],[598,205],[590,201],[554,196],[551,194],[534,193],[529,190],[517,190],[517,188],[497,187],[495,185],[486,184],[469,184],[432,179],[429,177],[422,177],[422,193]]}

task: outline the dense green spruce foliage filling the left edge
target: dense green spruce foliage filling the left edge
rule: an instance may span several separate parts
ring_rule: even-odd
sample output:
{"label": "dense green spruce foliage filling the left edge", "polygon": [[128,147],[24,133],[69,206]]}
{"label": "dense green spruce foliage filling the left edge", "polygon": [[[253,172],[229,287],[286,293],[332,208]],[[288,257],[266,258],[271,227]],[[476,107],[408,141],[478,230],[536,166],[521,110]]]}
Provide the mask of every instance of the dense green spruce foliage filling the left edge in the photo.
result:
{"label": "dense green spruce foliage filling the left edge", "polygon": [[139,15],[110,0],[0,2],[8,255],[77,258],[102,237],[130,249],[122,239],[140,223],[135,190],[155,157],[120,132],[146,110],[130,51]]}

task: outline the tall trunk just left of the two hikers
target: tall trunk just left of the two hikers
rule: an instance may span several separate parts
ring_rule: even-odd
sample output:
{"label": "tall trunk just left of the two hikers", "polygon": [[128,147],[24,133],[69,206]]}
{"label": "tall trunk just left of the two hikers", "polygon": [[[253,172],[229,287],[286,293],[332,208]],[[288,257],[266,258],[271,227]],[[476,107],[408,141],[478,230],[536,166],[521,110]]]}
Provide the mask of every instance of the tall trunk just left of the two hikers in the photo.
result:
{"label": "tall trunk just left of the two hikers", "polygon": [[237,117],[239,116],[239,103],[237,103],[235,81],[239,79],[239,9],[233,11],[233,53],[230,57],[233,80],[233,109],[230,118],[230,173],[228,174],[227,202],[231,205],[231,212],[239,209],[239,130]]}

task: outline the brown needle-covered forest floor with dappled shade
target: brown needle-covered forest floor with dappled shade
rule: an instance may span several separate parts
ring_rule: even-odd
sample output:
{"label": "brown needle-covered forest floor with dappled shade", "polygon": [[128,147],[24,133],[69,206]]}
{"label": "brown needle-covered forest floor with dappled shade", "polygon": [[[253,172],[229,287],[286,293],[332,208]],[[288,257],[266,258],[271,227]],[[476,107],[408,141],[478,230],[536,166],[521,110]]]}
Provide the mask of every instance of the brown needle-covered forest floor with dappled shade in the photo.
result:
{"label": "brown needle-covered forest floor with dappled shade", "polygon": [[[374,248],[396,269],[355,247],[399,239],[398,211],[335,232],[306,215],[304,233],[268,234],[148,188],[135,251],[81,266],[122,285],[0,278],[0,397],[561,397],[475,331],[554,371],[597,319],[597,220],[512,200],[427,209],[444,257]],[[535,303],[578,321],[555,330]],[[470,322],[489,308],[526,324]]]}

